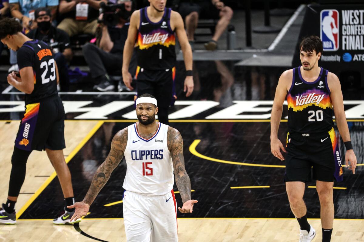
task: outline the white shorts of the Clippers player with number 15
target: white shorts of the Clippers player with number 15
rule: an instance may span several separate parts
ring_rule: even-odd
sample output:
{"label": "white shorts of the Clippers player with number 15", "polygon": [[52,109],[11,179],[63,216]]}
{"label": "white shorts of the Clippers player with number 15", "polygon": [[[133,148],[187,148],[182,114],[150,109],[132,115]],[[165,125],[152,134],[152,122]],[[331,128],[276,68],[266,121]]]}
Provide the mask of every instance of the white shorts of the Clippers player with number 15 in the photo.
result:
{"label": "white shorts of the Clippers player with number 15", "polygon": [[162,196],[124,191],[127,242],[177,242],[177,203],[173,190]]}

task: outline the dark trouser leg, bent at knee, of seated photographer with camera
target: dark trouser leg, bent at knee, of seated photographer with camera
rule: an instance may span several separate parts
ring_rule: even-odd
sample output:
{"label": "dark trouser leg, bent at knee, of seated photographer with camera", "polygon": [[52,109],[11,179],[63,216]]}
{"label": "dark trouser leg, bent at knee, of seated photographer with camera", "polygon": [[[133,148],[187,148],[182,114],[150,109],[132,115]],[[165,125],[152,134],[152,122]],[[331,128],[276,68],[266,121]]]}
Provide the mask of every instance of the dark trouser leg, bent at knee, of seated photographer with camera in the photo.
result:
{"label": "dark trouser leg, bent at knee, of seated photographer with camera", "polygon": [[105,52],[91,43],[82,47],[82,53],[94,79],[105,76],[108,71],[121,70],[123,61],[117,54]]}

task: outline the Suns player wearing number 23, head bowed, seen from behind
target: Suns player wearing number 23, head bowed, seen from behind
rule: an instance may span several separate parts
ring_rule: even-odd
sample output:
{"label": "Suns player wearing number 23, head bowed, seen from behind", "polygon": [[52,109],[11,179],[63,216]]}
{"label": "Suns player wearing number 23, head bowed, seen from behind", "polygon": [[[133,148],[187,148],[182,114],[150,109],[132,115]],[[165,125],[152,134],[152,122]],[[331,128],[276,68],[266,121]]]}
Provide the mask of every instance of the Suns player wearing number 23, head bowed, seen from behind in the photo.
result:
{"label": "Suns player wearing number 23, head bowed, seen from behind", "polygon": [[[28,157],[33,150],[46,150],[62,187],[65,211],[54,219],[55,224],[70,223],[74,209],[71,173],[63,156],[64,108],[58,97],[58,69],[50,47],[21,33],[23,27],[15,19],[0,20],[0,39],[17,51],[18,76],[8,75],[8,83],[25,93],[25,113],[16,135],[8,199],[0,210],[0,223],[15,224],[15,203],[25,179]],[[80,220],[76,221],[79,222]]]}

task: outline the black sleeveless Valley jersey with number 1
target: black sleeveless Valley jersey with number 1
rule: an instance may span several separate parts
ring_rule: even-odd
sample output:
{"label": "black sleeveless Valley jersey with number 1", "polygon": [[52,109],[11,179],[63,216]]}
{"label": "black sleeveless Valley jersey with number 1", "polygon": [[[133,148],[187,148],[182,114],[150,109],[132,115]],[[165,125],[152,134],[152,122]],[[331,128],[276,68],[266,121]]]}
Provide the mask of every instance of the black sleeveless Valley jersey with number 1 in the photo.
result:
{"label": "black sleeveless Valley jersey with number 1", "polygon": [[159,22],[151,22],[147,7],[140,9],[138,29],[138,66],[147,70],[171,69],[175,66],[175,33],[170,26],[171,9],[165,8]]}

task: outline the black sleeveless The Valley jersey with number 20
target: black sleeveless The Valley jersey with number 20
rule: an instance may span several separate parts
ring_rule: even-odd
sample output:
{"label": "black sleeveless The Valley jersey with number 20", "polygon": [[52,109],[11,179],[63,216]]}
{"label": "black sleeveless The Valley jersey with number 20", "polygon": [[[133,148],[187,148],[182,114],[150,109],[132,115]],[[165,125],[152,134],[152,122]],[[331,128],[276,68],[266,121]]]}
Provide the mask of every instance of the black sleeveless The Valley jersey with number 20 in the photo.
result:
{"label": "black sleeveless The Valley jersey with number 20", "polygon": [[328,71],[321,67],[314,82],[306,82],[301,66],[293,69],[292,85],[287,95],[288,131],[302,134],[328,132],[334,126]]}

